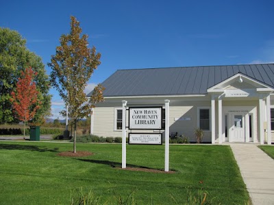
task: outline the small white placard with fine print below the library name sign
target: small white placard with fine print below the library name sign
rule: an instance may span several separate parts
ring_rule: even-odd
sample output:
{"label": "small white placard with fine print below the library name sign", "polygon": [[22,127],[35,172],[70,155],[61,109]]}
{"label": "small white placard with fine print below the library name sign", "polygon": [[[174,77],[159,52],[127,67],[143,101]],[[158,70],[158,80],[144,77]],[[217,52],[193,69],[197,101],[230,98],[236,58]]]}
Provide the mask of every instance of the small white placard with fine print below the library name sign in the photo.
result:
{"label": "small white placard with fine print below the library name sign", "polygon": [[129,133],[129,144],[162,144],[162,134]]}

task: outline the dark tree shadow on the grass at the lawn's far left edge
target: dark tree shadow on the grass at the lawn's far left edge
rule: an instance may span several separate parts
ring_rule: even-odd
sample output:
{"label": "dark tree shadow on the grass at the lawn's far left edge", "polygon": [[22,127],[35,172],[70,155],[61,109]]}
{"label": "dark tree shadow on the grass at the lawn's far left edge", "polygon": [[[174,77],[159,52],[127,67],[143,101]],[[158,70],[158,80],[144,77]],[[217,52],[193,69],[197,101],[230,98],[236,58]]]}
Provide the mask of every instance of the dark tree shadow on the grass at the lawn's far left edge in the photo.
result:
{"label": "dark tree shadow on the grass at the lawn's far left edge", "polygon": [[36,152],[58,152],[59,148],[41,148],[38,146],[29,146],[29,145],[18,145],[18,144],[6,144],[0,143],[0,150],[27,150],[27,151],[36,151]]}

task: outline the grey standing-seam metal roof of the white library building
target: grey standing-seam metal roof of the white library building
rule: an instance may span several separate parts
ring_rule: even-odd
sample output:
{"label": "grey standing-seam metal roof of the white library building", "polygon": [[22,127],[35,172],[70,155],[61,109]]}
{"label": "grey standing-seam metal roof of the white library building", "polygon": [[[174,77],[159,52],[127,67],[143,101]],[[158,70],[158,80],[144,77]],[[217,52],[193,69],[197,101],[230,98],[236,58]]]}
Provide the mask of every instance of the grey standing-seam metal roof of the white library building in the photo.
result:
{"label": "grey standing-seam metal roof of the white library building", "polygon": [[[208,88],[242,73],[274,87],[274,64],[117,70],[103,81],[104,96],[207,94]],[[91,93],[90,93],[91,94]],[[88,94],[88,96],[90,96]]]}

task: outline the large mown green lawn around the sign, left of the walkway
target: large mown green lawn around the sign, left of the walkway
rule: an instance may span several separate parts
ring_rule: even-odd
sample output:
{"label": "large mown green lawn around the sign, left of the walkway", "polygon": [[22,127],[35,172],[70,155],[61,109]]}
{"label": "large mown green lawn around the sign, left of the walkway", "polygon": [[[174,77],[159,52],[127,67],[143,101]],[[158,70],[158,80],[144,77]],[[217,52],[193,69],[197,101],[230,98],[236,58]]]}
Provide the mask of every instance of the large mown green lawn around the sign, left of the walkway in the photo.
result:
{"label": "large mown green lawn around the sign, left of the walkway", "polygon": [[[92,156],[70,158],[58,152],[71,143],[0,142],[1,204],[70,204],[71,191],[82,187],[100,195],[100,202],[116,204],[134,192],[138,204],[186,202],[186,187],[203,187],[214,202],[245,204],[249,195],[229,146],[170,146],[170,169],[155,174],[116,169],[121,144],[78,143]],[[164,169],[163,146],[127,146],[127,165]]]}

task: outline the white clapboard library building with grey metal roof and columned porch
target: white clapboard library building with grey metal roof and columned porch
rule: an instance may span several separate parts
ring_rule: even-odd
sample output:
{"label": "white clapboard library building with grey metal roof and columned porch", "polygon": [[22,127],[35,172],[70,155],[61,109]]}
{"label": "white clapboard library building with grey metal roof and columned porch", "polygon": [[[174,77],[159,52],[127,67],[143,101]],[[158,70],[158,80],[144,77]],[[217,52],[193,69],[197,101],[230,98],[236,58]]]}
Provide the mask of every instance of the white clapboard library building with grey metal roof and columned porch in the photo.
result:
{"label": "white clapboard library building with grey metal roof and columned porch", "polygon": [[[168,122],[169,135],[193,142],[201,128],[205,143],[274,143],[274,64],[117,70],[102,85],[105,101],[92,110],[93,135],[122,137],[125,116],[127,136],[164,136]],[[146,129],[146,124],[155,126]]]}

